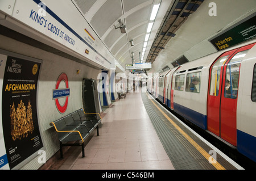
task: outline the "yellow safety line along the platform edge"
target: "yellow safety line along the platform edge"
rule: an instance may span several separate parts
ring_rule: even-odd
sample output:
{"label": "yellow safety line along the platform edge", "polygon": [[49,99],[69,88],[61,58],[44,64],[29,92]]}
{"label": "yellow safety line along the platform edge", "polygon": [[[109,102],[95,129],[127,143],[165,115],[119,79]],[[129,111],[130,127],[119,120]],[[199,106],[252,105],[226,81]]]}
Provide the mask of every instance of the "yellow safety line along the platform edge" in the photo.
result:
{"label": "yellow safety line along the platform edge", "polygon": [[[150,99],[151,100],[151,99]],[[152,100],[151,102],[155,105],[156,108],[158,108],[158,110],[166,117],[166,119],[168,121],[170,121],[170,123],[172,125],[174,125],[174,127],[181,133],[183,134],[183,136],[185,138],[187,138],[187,140],[207,159],[209,160],[209,158],[211,157],[211,155],[209,155],[207,153],[207,151],[205,151],[203,148],[201,148],[201,146],[199,144],[197,144],[190,136],[188,136],[187,133],[185,133],[174,121],[172,121],[172,119],[166,115],[166,113],[164,113]],[[213,163],[212,165],[217,169],[217,170],[226,170],[222,165],[220,165],[220,163],[218,163],[214,158],[213,159]]]}

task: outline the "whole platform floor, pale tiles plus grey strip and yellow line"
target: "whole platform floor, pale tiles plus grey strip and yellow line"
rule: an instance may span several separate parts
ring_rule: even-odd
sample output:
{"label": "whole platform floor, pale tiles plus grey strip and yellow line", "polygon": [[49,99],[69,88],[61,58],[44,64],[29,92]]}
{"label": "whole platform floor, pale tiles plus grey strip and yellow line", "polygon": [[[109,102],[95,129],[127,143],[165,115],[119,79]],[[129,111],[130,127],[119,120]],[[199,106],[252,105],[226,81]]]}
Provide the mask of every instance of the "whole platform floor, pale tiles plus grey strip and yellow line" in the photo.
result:
{"label": "whole platform floor, pale tiles plus grey strip and yellow line", "polygon": [[242,169],[222,153],[217,153],[217,166],[210,164],[207,154],[214,148],[177,123],[145,91],[127,93],[104,113],[100,136],[94,134],[85,146],[85,157],[79,147],[59,170]]}

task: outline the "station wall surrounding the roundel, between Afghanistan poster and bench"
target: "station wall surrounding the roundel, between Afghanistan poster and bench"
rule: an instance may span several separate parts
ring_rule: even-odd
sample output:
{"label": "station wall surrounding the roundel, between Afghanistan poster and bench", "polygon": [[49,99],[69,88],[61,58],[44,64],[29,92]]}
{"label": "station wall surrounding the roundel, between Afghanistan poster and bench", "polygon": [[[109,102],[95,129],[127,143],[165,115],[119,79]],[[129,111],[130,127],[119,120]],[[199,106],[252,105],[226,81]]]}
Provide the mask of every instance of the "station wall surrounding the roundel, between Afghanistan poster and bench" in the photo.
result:
{"label": "station wall surrounding the roundel, between Afghanistan poster and bench", "polygon": [[[38,81],[38,120],[44,146],[46,147],[46,159],[48,160],[59,150],[57,134],[49,123],[82,108],[82,79],[97,79],[97,75],[101,71],[2,35],[0,35],[0,49],[42,60]],[[76,74],[77,69],[80,70],[80,74]],[[68,76],[70,96],[67,111],[61,114],[52,99],[52,90],[55,89],[57,78],[63,72]],[[40,166],[42,164],[38,163],[38,157],[36,157],[23,166],[22,169],[39,169]]]}

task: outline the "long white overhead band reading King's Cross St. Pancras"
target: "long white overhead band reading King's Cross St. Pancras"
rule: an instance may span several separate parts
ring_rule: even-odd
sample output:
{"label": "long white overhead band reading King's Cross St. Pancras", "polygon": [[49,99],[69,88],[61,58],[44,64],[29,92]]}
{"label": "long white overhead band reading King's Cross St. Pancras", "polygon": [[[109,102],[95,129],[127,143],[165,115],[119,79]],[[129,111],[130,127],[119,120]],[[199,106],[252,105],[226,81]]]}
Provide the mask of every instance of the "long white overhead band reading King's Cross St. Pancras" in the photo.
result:
{"label": "long white overhead band reading King's Cross St. Pancras", "polygon": [[24,0],[16,1],[13,5],[9,4],[8,0],[1,0],[0,11],[12,17],[11,21],[10,18],[5,19],[15,25],[10,28],[15,27],[16,31],[26,36],[79,57],[101,69],[115,67],[113,54],[102,43],[72,1],[59,3],[50,0]]}

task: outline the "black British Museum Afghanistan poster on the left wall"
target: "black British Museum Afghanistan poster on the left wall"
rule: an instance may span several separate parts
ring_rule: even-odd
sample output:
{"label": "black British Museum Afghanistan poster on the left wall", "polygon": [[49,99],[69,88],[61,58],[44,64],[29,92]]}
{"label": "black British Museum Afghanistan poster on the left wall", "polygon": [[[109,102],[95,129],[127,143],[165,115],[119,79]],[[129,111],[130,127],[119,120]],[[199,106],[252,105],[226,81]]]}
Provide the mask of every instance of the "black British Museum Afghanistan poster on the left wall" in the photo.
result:
{"label": "black British Museum Afghanistan poster on the left wall", "polygon": [[40,63],[8,56],[2,85],[2,128],[10,169],[43,148],[36,94]]}

